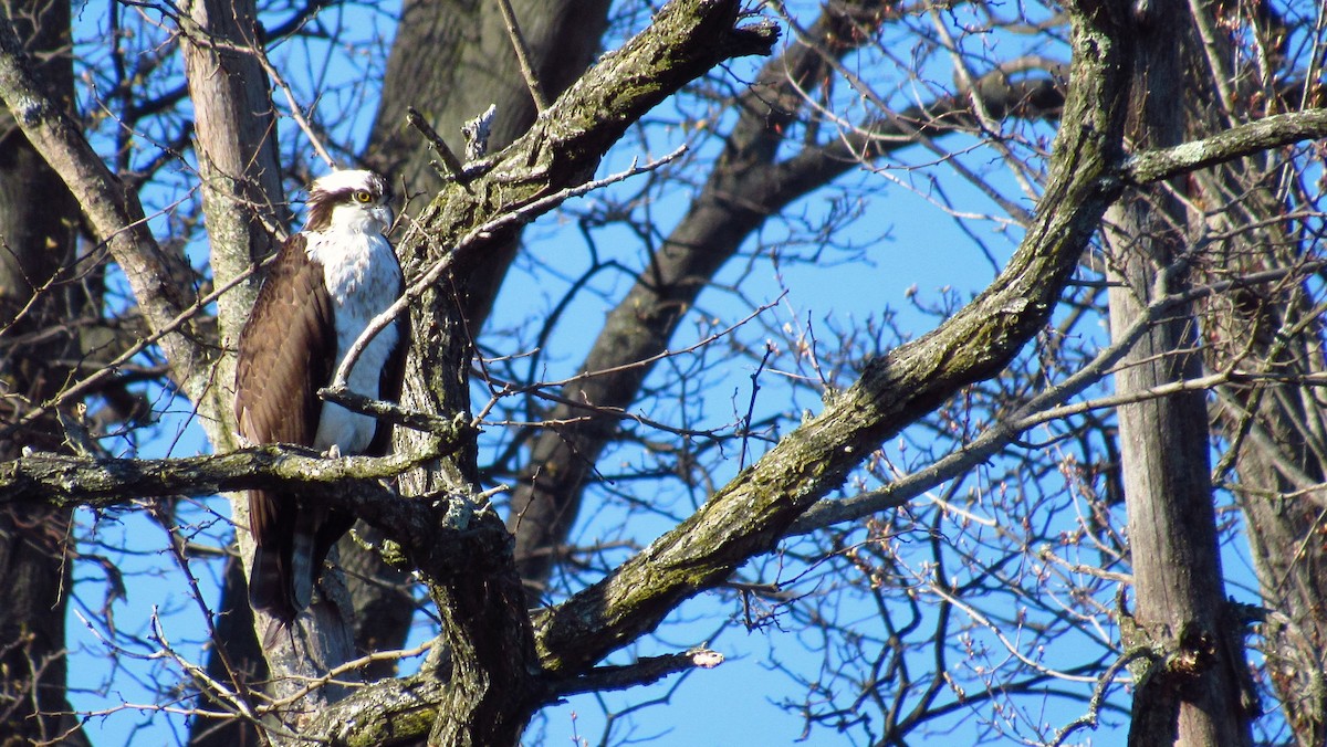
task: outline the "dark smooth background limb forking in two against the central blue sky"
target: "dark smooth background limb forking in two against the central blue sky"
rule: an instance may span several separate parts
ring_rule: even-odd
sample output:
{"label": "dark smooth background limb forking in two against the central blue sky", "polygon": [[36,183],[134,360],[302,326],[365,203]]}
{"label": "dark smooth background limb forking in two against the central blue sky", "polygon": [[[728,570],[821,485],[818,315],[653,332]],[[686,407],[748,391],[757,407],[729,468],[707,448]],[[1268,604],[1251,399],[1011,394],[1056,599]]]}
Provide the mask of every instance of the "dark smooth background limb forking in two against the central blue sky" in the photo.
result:
{"label": "dark smooth background limb forking in two against the central blue sky", "polygon": [[[602,410],[625,410],[640,395],[653,364],[666,349],[709,279],[719,271],[770,216],[824,187],[863,162],[913,146],[918,138],[970,131],[971,96],[957,93],[902,111],[889,111],[823,145],[807,145],[792,157],[790,125],[808,107],[809,90],[829,78],[837,57],[871,41],[865,29],[885,15],[878,1],[836,4],[768,61],[752,88],[738,98],[742,113],[726,138],[725,153],[705,187],[667,240],[650,259],[630,292],[609,314],[581,370],[621,369],[589,382],[575,382],[563,398],[591,402]],[[1059,117],[1063,92],[1052,81],[1010,81],[997,69],[978,81],[987,111],[1013,117]],[[576,418],[573,406],[548,419],[569,421],[541,433],[531,448],[512,495],[508,525],[516,533],[516,557],[532,605],[556,561],[549,548],[564,544],[579,512],[588,476],[617,429],[605,418]]]}

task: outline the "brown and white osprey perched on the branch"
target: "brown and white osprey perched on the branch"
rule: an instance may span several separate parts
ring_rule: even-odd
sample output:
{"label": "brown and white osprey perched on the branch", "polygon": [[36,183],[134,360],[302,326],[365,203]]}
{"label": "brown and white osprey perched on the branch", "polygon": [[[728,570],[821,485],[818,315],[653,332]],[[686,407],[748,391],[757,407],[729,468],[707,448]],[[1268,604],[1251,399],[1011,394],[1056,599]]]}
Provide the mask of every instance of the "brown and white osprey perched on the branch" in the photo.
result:
{"label": "brown and white osprey perched on the branch", "polygon": [[[249,443],[295,443],[333,454],[385,452],[390,427],[318,399],[369,321],[402,293],[401,264],[384,232],[387,183],[372,171],[333,171],[309,187],[304,231],[287,239],[240,333],[235,419]],[[373,338],[350,370],[352,391],[394,399],[401,322]],[[328,551],[354,516],[287,491],[248,494],[253,565],[249,604],[289,625],[309,606]]]}

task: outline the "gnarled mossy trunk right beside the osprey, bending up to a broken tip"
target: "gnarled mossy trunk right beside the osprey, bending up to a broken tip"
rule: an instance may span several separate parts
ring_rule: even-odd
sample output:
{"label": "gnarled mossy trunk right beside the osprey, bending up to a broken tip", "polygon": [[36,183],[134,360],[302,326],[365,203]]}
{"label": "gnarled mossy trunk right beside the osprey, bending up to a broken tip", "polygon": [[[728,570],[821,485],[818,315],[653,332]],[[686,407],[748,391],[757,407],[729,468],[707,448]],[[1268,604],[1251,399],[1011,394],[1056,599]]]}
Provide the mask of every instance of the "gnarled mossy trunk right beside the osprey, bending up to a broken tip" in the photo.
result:
{"label": "gnarled mossy trunk right beside the osprey, bending up to a broken tip", "polygon": [[[421,212],[397,247],[407,277],[421,277],[445,259],[453,265],[451,277],[422,293],[411,308],[411,325],[419,332],[406,373],[405,406],[449,414],[467,406],[468,345],[458,301],[464,296],[470,271],[484,261],[486,252],[453,249],[475,226],[499,215],[535,204],[540,212],[552,210],[560,199],[544,198],[569,194],[560,191],[587,182],[608,149],[650,107],[727,58],[768,53],[776,29],[770,24],[739,28],[739,16],[740,4],[734,0],[669,3],[645,32],[605,54],[525,135],[472,165],[470,179],[446,184]],[[518,228],[519,222],[503,224],[480,243],[500,245]],[[472,471],[472,460],[462,454],[454,463],[430,464],[419,474],[403,475],[401,486],[406,494],[464,491]],[[468,500],[462,499],[433,508],[434,532],[403,543],[426,575],[430,568],[443,573],[430,578],[429,589],[451,650],[451,686],[433,690],[438,698],[422,707],[418,701],[395,701],[415,697],[401,683],[366,687],[342,702],[356,713],[354,735],[346,735],[346,711],[340,707],[320,715],[309,735],[336,734],[354,742],[368,734],[427,734],[433,743],[512,743],[529,713],[547,699],[548,687],[539,675],[533,634],[511,564],[510,535],[491,512],[467,506]],[[442,509],[450,511],[443,516]],[[437,528],[451,525],[466,528],[439,541]],[[399,533],[401,528],[394,531]],[[445,551],[455,548],[459,551],[453,555],[459,557],[443,557]],[[451,561],[451,573],[446,573],[445,560]],[[391,715],[402,715],[402,710],[413,714],[406,724]],[[425,731],[413,731],[421,726],[426,726]]]}

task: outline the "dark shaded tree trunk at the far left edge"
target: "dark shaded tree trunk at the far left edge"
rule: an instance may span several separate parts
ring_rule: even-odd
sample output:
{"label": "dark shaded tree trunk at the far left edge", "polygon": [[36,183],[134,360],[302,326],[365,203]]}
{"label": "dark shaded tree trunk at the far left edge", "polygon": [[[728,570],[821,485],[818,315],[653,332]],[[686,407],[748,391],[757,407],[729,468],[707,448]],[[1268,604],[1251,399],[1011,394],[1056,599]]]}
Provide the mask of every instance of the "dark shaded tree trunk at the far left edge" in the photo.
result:
{"label": "dark shaded tree trunk at the far left edge", "polygon": [[[7,1],[24,48],[41,56],[49,94],[72,106],[69,5]],[[78,328],[89,299],[61,271],[77,251],[78,206],[8,111],[0,111],[0,426],[53,397],[78,360]],[[72,417],[73,410],[64,414]],[[54,414],[17,433],[0,431],[0,460],[23,448],[66,451]],[[65,715],[66,552],[73,511],[49,504],[0,507],[0,744],[62,740],[85,744]]]}

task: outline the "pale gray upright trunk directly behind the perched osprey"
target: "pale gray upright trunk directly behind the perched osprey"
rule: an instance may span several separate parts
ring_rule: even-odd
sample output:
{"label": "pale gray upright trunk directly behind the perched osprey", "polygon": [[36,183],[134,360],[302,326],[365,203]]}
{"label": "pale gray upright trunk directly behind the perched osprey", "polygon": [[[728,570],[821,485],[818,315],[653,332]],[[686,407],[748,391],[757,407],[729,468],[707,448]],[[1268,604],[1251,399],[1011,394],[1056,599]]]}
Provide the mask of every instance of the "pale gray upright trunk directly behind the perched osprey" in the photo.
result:
{"label": "pale gray upright trunk directly behind the perched osprey", "polygon": [[[287,211],[281,184],[281,169],[276,150],[276,117],[268,94],[267,73],[257,57],[261,41],[256,38],[256,9],[252,0],[198,0],[184,5],[187,16],[180,16],[180,48],[194,102],[195,153],[199,175],[203,179],[203,212],[207,218],[211,264],[215,281],[226,284],[251,269],[255,263],[276,248],[273,231],[285,224]],[[255,50],[255,52],[247,52]],[[259,277],[245,288],[227,293],[218,304],[222,344],[231,348],[252,306]],[[203,411],[211,413],[222,427],[211,429],[214,448],[234,448],[231,401],[234,391],[234,358],[222,356],[214,368],[215,385],[208,390]],[[208,407],[211,405],[211,407]],[[247,524],[247,504],[239,496],[231,500],[231,513],[236,527]],[[243,529],[236,532],[240,557],[252,557],[251,537]],[[222,601],[222,612],[231,617],[243,616],[247,608],[244,594],[234,593]],[[350,638],[350,605],[344,589],[329,578],[324,592],[332,604],[316,604],[308,616],[297,621],[297,634],[268,637],[272,644],[264,651],[271,677],[268,691],[272,697],[287,698],[304,690],[309,678],[324,675],[354,657]],[[334,594],[341,589],[340,597]],[[340,602],[340,604],[337,604]],[[257,634],[272,625],[261,616],[253,618]],[[231,629],[232,634],[240,633]],[[230,682],[238,693],[245,693],[243,657],[253,649],[253,642],[240,633],[235,641],[218,641],[214,657],[234,659],[223,682]],[[231,647],[234,646],[234,647]],[[231,647],[227,650],[227,647]],[[219,662],[211,666],[218,669]],[[283,720],[296,723],[301,711],[313,711],[329,699],[337,698],[340,687],[321,689],[301,698],[283,714]],[[232,739],[247,735],[249,727],[232,722]],[[195,726],[206,726],[196,719]]]}

